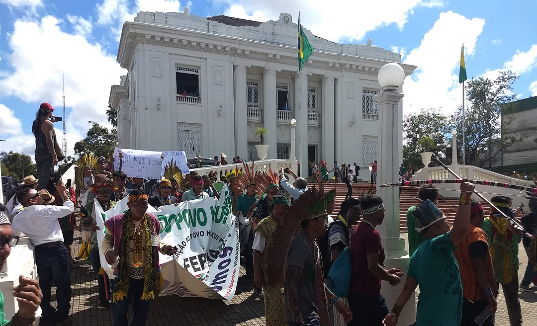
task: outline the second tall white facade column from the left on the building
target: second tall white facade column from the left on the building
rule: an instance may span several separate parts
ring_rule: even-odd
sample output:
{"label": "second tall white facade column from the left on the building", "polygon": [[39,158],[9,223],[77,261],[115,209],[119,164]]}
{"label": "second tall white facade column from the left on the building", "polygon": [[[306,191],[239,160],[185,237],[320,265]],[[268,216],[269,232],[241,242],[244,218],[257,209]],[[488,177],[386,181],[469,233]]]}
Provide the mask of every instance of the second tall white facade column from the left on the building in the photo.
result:
{"label": "second tall white facade column from the left on the building", "polygon": [[267,160],[276,158],[276,70],[263,71],[263,124],[269,130],[265,144],[270,145]]}

